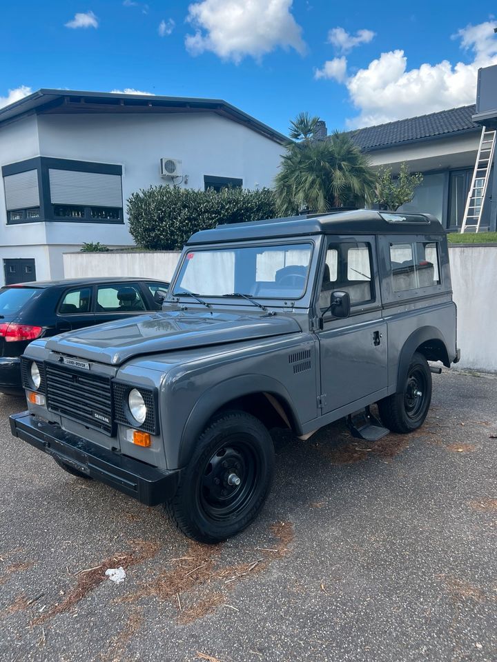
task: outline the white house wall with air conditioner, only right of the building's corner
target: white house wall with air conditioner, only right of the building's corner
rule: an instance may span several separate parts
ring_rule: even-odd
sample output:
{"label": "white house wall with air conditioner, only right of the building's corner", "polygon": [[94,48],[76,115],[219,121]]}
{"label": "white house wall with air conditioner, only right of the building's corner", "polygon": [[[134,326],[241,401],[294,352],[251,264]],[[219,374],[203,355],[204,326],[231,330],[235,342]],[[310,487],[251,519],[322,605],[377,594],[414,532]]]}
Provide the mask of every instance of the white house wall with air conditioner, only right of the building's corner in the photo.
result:
{"label": "white house wall with air conditioner, only right of the building's corner", "polygon": [[[131,193],[169,181],[160,177],[161,157],[182,161],[187,188],[203,189],[204,174],[237,177],[244,188],[256,188],[271,185],[284,152],[279,144],[211,112],[47,114],[38,122],[42,156],[122,165],[124,208]],[[133,244],[122,225],[51,223],[47,232],[49,242],[57,237],[59,243],[72,243],[77,234],[82,241]]]}

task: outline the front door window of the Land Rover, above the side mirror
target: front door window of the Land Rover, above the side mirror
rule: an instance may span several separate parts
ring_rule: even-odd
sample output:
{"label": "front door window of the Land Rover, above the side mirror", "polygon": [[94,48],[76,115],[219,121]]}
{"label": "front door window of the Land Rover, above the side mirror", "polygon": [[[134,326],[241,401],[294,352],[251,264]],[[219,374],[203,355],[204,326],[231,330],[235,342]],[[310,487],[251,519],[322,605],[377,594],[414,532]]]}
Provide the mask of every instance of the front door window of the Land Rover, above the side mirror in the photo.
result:
{"label": "front door window of the Land Rover, above the side mirror", "polygon": [[349,293],[351,305],[373,300],[371,245],[366,242],[330,244],[320,293],[320,308],[328,308],[333,290]]}

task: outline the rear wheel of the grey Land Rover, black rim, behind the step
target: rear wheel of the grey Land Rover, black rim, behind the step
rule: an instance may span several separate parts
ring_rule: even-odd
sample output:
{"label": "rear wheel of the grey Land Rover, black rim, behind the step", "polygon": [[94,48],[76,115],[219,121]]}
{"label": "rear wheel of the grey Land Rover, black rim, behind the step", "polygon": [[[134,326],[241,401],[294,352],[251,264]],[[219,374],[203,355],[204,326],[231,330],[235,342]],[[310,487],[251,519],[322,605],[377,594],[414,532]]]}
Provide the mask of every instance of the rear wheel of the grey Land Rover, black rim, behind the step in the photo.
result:
{"label": "rear wheel of the grey Land Rover, black rim, behind the step", "polygon": [[[416,384],[413,386],[413,384]],[[413,397],[413,389],[422,392],[420,401]],[[431,403],[431,372],[425,357],[414,352],[407,370],[402,393],[394,393],[378,402],[378,410],[385,427],[405,434],[418,430],[425,422]]]}

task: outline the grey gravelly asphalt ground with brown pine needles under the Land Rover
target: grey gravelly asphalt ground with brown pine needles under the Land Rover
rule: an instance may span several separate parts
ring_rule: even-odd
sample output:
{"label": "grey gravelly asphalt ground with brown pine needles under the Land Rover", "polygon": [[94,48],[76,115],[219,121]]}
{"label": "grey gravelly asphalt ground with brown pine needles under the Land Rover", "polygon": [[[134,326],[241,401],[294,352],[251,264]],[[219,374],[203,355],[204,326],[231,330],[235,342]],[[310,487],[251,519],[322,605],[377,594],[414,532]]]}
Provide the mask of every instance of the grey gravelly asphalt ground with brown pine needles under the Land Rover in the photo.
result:
{"label": "grey gravelly asphalt ground with brown pine needles under the Land Rover", "polygon": [[0,659],[495,661],[497,379],[433,382],[408,437],[275,433],[262,515],[214,547],[12,438],[0,395]]}

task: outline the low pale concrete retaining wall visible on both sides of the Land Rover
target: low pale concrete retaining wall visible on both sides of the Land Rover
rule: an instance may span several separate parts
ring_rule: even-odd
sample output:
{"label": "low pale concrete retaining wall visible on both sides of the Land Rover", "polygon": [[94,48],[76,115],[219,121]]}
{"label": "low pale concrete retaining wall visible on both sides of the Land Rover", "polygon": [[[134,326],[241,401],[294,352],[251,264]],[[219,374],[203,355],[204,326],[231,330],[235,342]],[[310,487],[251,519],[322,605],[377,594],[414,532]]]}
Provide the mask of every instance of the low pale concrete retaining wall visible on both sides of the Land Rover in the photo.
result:
{"label": "low pale concrete retaining wall visible on both sides of the Land Rover", "polygon": [[[454,368],[497,372],[497,246],[451,246],[452,288],[458,306],[460,363]],[[170,281],[179,252],[70,253],[66,278],[143,276]]]}

